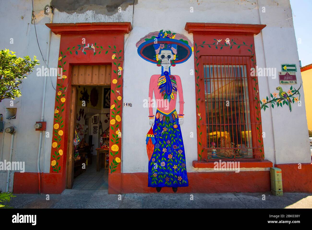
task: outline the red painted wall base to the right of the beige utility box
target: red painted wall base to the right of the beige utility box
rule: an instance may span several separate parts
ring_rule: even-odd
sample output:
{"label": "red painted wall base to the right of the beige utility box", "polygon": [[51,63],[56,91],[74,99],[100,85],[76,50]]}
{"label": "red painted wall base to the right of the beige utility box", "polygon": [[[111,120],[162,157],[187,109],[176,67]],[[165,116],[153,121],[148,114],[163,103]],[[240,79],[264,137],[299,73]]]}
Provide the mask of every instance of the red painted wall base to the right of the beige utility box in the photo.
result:
{"label": "red painted wall base to the right of the beige utility box", "polygon": [[284,192],[312,192],[312,164],[275,164],[282,170]]}

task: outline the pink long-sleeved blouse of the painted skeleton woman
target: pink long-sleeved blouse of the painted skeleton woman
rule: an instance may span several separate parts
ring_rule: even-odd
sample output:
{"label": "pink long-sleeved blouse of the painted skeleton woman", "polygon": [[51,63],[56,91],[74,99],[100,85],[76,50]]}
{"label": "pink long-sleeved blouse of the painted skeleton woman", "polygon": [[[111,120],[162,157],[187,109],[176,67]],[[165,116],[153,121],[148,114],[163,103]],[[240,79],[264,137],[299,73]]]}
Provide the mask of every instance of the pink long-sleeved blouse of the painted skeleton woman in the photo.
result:
{"label": "pink long-sleeved blouse of the painted skeleton woman", "polygon": [[[178,94],[179,94],[179,103],[180,103],[180,111],[178,114],[183,114],[183,90],[182,90],[182,84],[181,79],[178,75],[173,75],[177,80],[177,88],[178,88]],[[151,79],[149,81],[149,115],[153,116],[153,91],[155,94],[157,109],[164,112],[164,113],[170,113],[176,108],[176,100],[177,95],[174,94],[174,99],[171,99],[168,103],[168,100],[164,100],[161,94],[159,93],[158,89],[158,78],[160,75],[152,75]],[[169,105],[168,105],[169,104]],[[154,105],[155,106],[155,105]]]}

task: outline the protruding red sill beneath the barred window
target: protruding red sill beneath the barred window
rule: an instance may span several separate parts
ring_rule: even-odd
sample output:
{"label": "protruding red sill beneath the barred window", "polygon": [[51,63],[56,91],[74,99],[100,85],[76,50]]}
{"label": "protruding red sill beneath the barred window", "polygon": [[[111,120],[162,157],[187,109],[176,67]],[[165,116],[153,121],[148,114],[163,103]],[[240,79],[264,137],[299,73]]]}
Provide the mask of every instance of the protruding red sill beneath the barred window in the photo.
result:
{"label": "protruding red sill beneath the barred window", "polygon": [[[214,162],[219,162],[220,159],[210,160],[210,161],[193,161],[194,168],[214,168]],[[233,162],[231,160],[221,160],[222,162]],[[236,160],[239,161],[239,160]],[[271,168],[273,163],[269,160],[241,160],[239,161],[240,168]]]}

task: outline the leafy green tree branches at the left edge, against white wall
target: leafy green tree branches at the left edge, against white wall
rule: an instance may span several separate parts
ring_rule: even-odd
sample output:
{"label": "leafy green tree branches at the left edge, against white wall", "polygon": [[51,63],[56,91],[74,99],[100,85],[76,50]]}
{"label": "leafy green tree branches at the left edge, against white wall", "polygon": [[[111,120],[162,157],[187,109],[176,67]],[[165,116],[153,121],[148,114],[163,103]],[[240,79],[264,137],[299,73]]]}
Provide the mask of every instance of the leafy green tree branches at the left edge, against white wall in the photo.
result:
{"label": "leafy green tree branches at the left edge, against white wall", "polygon": [[15,52],[8,49],[0,51],[0,102],[5,98],[15,99],[21,96],[18,88],[22,80],[39,65],[37,57],[16,57]]}

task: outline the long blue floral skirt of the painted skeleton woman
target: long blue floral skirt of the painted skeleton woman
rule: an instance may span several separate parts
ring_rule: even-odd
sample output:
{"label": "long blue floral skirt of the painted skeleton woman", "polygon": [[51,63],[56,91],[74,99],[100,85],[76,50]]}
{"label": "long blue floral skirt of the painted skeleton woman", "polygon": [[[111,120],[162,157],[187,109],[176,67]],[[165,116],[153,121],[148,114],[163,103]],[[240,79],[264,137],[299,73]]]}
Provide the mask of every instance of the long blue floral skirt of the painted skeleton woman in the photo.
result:
{"label": "long blue floral skirt of the painted skeleton woman", "polygon": [[149,187],[187,187],[185,152],[178,114],[157,110],[153,127],[155,148],[149,161]]}

